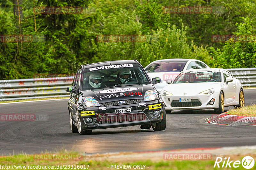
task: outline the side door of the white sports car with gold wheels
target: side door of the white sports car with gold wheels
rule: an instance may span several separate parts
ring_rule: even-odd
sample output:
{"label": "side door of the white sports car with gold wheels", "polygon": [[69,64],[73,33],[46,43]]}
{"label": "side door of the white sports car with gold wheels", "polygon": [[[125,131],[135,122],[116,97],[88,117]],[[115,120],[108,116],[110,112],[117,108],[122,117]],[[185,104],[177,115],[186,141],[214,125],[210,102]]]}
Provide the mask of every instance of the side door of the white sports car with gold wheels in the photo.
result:
{"label": "side door of the white sports car with gold wheels", "polygon": [[223,89],[224,89],[224,97],[225,97],[225,101],[224,104],[230,104],[233,103],[235,101],[235,97],[236,97],[236,85],[234,81],[231,82],[226,82],[226,78],[227,77],[232,77],[233,76],[228,73],[227,71],[223,71],[223,79],[224,79],[224,84],[223,84]]}

